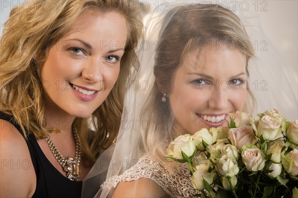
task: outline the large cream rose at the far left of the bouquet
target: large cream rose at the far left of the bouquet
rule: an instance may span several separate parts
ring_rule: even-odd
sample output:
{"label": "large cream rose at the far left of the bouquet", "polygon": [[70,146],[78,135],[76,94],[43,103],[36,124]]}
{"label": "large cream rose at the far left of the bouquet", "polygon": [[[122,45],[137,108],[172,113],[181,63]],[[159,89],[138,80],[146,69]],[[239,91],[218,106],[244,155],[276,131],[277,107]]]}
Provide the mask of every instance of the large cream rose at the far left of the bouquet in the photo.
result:
{"label": "large cream rose at the far left of the bouquet", "polygon": [[188,157],[192,156],[196,151],[196,143],[189,134],[178,136],[167,148],[166,157],[183,160],[183,151]]}

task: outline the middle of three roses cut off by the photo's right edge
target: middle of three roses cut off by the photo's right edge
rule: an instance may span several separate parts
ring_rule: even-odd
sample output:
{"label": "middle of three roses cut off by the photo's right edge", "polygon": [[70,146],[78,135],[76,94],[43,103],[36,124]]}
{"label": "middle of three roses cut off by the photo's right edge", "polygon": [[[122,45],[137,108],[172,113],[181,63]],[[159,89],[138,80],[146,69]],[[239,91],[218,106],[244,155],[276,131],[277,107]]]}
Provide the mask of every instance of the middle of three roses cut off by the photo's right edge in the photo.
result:
{"label": "middle of three roses cut off by the photo's right edge", "polygon": [[282,164],[290,175],[298,175],[298,149],[294,148],[287,156],[283,156]]}

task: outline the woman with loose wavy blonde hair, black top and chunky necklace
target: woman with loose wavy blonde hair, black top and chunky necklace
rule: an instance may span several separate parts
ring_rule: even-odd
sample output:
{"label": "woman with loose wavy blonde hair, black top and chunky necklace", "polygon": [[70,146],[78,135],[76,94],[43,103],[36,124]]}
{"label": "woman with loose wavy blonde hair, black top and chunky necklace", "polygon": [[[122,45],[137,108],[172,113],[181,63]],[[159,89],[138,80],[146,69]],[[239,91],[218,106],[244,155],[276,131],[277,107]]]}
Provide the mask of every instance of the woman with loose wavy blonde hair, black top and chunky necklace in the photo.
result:
{"label": "woman with loose wavy blonde hair, black top and chunky necklace", "polygon": [[143,25],[130,0],[29,3],[1,37],[0,197],[79,198],[118,133]]}

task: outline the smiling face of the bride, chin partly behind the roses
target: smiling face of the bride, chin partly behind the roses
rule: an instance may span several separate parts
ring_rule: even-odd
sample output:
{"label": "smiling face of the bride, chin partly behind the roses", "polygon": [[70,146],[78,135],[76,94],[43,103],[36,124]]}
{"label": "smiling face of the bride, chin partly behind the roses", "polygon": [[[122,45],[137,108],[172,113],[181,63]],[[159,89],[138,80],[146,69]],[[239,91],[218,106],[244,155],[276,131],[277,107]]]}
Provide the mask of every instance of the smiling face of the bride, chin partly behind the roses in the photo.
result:
{"label": "smiling face of the bride, chin partly behind the roses", "polygon": [[246,56],[238,49],[204,47],[184,56],[168,94],[174,126],[182,134],[225,126],[247,93]]}

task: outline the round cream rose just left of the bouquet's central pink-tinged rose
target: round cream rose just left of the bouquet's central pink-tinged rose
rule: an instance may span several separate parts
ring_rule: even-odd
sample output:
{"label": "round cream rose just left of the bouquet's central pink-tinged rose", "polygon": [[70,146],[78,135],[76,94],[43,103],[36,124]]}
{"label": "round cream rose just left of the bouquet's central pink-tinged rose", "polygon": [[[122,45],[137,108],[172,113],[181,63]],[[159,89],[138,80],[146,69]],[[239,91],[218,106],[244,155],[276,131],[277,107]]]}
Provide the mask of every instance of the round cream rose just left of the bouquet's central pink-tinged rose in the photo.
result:
{"label": "round cream rose just left of the bouquet's central pink-tinged rose", "polygon": [[223,155],[218,160],[216,169],[224,177],[233,177],[239,172],[237,161],[229,155]]}

